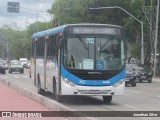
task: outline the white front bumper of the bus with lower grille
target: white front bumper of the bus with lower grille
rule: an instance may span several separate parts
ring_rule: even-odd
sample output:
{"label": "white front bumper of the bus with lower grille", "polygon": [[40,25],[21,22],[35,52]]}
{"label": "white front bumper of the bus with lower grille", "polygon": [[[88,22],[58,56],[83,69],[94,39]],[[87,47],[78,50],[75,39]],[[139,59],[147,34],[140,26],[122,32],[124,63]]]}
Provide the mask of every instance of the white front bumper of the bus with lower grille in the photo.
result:
{"label": "white front bumper of the bus with lower grille", "polygon": [[93,96],[111,96],[124,95],[125,80],[113,86],[80,86],[62,82],[62,95],[93,95]]}

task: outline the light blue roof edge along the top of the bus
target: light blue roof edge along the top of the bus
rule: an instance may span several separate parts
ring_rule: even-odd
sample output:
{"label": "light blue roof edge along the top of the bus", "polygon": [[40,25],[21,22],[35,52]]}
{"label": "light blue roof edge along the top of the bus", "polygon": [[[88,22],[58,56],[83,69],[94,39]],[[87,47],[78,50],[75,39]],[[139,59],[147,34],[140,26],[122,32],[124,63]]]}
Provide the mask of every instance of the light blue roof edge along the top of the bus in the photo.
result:
{"label": "light blue roof edge along the top of the bus", "polygon": [[55,27],[55,28],[52,28],[52,29],[48,29],[48,30],[44,30],[44,31],[40,31],[40,32],[34,33],[32,35],[32,39],[39,38],[39,37],[46,36],[46,35],[53,35],[54,33],[58,33],[58,32],[63,32],[63,30],[64,30],[64,28],[66,26],[82,26],[82,25],[86,25],[86,26],[106,26],[106,27],[122,28],[121,26],[112,25],[112,24],[95,24],[95,23],[67,24],[67,25],[62,25],[62,26],[59,26],[59,27]]}

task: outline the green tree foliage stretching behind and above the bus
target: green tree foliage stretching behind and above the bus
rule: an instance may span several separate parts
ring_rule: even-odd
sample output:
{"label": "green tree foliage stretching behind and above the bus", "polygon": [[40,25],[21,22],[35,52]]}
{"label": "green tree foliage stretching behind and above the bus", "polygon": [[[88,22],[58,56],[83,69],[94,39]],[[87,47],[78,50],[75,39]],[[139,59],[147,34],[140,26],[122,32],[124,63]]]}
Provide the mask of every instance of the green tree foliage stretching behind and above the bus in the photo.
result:
{"label": "green tree foliage stretching behind and above the bus", "polygon": [[[97,2],[98,1],[98,2]],[[141,25],[121,9],[98,10],[98,14],[89,14],[89,5],[95,4],[102,7],[119,6],[131,13],[140,21],[144,22],[145,51],[150,48],[148,36],[148,23],[142,12],[142,5],[150,5],[150,0],[54,0],[52,8],[48,13],[54,18],[50,22],[35,22],[30,24],[26,30],[17,31],[5,28],[8,35],[10,52],[13,57],[30,57],[31,36],[41,30],[50,29],[63,24],[74,23],[102,23],[123,26],[126,29],[126,37],[131,43],[131,54],[140,56]],[[156,0],[153,0],[156,5]],[[18,47],[17,47],[18,46]]]}

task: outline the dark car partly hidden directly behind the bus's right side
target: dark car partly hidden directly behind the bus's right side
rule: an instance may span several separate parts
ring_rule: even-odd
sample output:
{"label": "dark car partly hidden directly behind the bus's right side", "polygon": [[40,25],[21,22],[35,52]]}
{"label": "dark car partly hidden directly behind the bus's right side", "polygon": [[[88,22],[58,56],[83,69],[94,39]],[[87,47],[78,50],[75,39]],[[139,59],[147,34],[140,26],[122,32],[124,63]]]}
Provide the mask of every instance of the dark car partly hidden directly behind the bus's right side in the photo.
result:
{"label": "dark car partly hidden directly behind the bus's right side", "polygon": [[136,86],[136,76],[135,71],[131,68],[130,64],[126,64],[126,76],[125,85],[131,84],[133,87]]}

